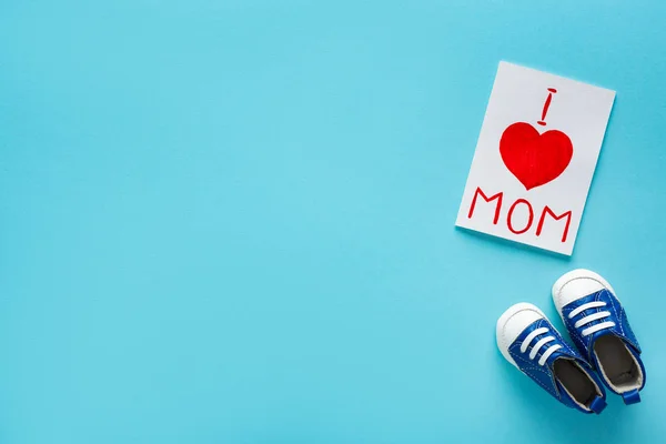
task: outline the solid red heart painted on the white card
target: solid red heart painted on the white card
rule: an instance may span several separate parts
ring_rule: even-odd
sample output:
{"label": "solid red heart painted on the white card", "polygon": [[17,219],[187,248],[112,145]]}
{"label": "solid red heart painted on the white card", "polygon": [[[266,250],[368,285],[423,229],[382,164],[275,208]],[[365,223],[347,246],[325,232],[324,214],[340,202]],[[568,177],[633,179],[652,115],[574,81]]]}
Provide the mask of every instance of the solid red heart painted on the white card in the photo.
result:
{"label": "solid red heart painted on the white card", "polygon": [[562,131],[539,134],[529,123],[518,122],[504,130],[500,154],[508,171],[532,190],[557,179],[566,170],[574,147]]}

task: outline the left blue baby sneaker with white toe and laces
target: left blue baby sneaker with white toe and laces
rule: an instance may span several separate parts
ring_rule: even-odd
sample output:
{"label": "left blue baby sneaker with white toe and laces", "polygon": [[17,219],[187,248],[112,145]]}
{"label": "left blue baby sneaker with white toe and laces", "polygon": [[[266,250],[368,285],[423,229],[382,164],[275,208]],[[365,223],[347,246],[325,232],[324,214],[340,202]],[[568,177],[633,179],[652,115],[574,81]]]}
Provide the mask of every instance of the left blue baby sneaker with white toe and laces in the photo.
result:
{"label": "left blue baby sneaker with white toe and laces", "polygon": [[568,407],[601,413],[606,392],[593,369],[536,306],[519,303],[497,321],[497,347],[506,361]]}

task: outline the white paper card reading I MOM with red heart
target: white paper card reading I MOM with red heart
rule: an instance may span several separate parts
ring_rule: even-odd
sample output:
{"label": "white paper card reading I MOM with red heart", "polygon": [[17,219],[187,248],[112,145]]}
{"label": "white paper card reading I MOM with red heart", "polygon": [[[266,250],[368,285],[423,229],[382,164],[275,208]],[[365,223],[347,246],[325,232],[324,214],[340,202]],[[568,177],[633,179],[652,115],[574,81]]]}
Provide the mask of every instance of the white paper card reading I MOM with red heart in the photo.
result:
{"label": "white paper card reading I MOM with red heart", "polygon": [[456,225],[571,255],[614,99],[501,62]]}

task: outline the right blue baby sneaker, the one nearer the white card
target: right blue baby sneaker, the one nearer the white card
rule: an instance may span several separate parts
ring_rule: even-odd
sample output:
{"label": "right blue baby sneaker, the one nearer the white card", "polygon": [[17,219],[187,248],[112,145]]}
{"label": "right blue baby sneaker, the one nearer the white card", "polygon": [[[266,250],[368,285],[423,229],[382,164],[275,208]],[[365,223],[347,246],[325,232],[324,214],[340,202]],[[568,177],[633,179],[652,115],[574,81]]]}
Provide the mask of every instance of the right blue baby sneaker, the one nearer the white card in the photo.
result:
{"label": "right blue baby sneaker, the one nearer the white card", "polygon": [[640,402],[645,367],[640,347],[613,287],[588,270],[566,273],[553,285],[553,301],[578,351],[625,404]]}

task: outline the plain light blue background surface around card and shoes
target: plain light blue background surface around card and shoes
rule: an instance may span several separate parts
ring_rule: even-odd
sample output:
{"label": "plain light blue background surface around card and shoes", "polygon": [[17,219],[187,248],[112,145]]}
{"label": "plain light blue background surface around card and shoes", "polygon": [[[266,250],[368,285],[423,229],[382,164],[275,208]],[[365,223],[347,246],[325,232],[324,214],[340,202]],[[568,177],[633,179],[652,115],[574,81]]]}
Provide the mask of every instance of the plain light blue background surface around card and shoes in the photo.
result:
{"label": "plain light blue background surface around card and shoes", "polygon": [[[537,4],[538,3],[538,4]],[[3,443],[663,443],[666,2],[0,3]],[[573,258],[454,229],[500,60],[617,90]],[[644,403],[495,321],[616,287]]]}

